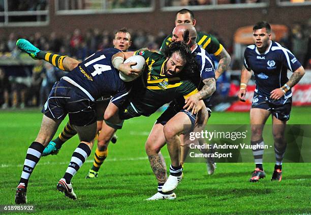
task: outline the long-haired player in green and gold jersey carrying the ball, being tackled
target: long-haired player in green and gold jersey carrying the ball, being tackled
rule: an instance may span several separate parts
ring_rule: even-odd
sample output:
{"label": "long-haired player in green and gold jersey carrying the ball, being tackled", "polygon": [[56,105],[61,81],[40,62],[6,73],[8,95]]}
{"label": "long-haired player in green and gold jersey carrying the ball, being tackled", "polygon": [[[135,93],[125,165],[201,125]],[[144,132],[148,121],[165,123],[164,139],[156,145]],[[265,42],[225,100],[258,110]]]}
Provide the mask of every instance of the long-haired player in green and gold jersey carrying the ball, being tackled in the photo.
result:
{"label": "long-haired player in green and gold jersey carrying the ball, being tackled", "polygon": [[[193,75],[197,64],[190,48],[184,43],[173,43],[165,51],[165,56],[145,50],[119,52],[113,56],[113,59],[118,57],[127,59],[132,55],[143,56],[146,67],[142,77],[133,83],[127,104],[122,105],[123,109],[120,108],[119,116],[122,120],[141,115],[150,116],[163,104],[180,96],[187,98],[198,92],[194,84],[196,77]],[[121,65],[127,66],[126,64],[115,66],[123,71]]]}

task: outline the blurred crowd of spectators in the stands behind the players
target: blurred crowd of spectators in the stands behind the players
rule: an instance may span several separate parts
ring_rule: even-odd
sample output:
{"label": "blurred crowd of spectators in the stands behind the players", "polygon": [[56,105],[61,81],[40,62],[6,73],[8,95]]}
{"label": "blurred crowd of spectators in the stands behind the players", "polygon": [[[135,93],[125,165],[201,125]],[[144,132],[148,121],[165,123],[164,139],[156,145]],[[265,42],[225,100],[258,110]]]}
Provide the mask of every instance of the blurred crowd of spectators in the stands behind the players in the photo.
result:
{"label": "blurred crowd of spectators in the stands behind the players", "polygon": [[[198,27],[197,27],[198,28]],[[129,29],[132,35],[133,44],[131,50],[137,50],[146,47],[150,50],[159,50],[167,32],[160,31],[157,35],[145,32],[143,30],[133,31]],[[311,68],[311,23],[308,27],[295,24],[279,43],[292,50],[293,54],[303,63],[304,68]],[[219,38],[217,32],[210,32],[224,44]],[[113,40],[113,31],[101,29],[88,29],[82,33],[80,29],[75,29],[72,34],[57,35],[52,32],[44,35],[36,32],[33,35],[19,35],[12,32],[8,38],[0,40],[0,105],[2,109],[24,108],[25,106],[42,106],[48,93],[56,80],[64,76],[63,71],[57,71],[49,63],[36,61],[34,66],[25,67],[23,77],[16,77],[10,74],[10,67],[5,66],[8,58],[19,58],[20,51],[16,48],[18,38],[26,38],[35,46],[42,50],[50,50],[60,55],[73,56],[76,59],[83,60],[95,51],[104,48],[111,48]],[[228,52],[232,56],[232,44],[228,46]],[[308,47],[308,48],[305,48]],[[28,56],[27,56],[28,57]],[[232,58],[231,68],[240,69],[242,62]]]}

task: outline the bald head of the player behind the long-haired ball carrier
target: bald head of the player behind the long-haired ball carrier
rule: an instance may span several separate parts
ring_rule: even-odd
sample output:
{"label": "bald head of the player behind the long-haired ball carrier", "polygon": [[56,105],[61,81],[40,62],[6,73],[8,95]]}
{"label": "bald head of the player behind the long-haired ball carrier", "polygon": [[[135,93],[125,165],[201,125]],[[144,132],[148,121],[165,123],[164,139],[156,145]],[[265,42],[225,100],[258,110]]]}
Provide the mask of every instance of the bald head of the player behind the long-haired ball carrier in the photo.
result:
{"label": "bald head of the player behind the long-haired ball carrier", "polygon": [[177,25],[173,29],[172,41],[183,41],[190,47],[196,44],[197,31],[196,28],[189,23],[183,23]]}

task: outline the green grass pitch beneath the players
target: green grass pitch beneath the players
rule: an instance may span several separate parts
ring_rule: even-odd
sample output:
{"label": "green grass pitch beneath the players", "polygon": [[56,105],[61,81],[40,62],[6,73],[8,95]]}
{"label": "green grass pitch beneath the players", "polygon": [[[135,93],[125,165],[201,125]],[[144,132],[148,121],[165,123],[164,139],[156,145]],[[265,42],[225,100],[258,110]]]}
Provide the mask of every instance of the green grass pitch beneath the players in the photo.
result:
{"label": "green grass pitch beneath the players", "polygon": [[[293,108],[289,123],[310,124],[310,111]],[[267,177],[256,184],[248,182],[253,163],[218,163],[213,175],[207,175],[204,163],[186,163],[176,200],[144,201],[157,192],[144,142],[158,116],[125,122],[117,132],[117,143],[109,146],[99,177],[86,180],[93,149],[72,181],[76,201],[57,192],[56,184],[66,171],[78,138],[69,140],[57,156],[41,158],[29,180],[28,204],[34,205],[38,214],[311,214],[310,163],[285,163],[281,183],[270,182],[274,164],[265,163]],[[39,110],[0,112],[2,207],[14,203],[26,150],[39,131],[41,118]],[[248,113],[213,113],[209,120],[212,124],[248,122]],[[162,152],[169,165],[166,147]]]}

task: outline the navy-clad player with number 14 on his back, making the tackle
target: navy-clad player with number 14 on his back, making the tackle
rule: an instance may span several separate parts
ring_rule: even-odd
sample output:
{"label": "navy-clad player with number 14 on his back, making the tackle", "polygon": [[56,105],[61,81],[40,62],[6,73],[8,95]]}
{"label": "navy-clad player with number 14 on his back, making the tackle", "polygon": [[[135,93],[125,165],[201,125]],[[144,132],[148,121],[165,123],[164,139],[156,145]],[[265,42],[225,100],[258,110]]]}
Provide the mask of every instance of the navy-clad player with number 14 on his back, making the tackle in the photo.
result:
{"label": "navy-clad player with number 14 on his back, making the tackle", "polygon": [[[23,39],[18,40],[17,46],[23,42]],[[57,190],[65,193],[71,199],[77,198],[71,180],[90,155],[94,144],[97,130],[96,100],[106,94],[114,95],[112,102],[119,106],[122,98],[126,97],[131,89],[130,84],[120,80],[119,72],[112,66],[111,58],[117,52],[120,50],[112,48],[91,55],[79,63],[71,73],[54,84],[42,109],[44,116],[38,136],[27,150],[16,189],[15,203],[26,203],[26,190],[30,174],[39,162],[45,146],[67,114],[72,127],[79,135],[80,144],[72,155],[66,173],[58,182]],[[46,55],[47,53],[43,51],[34,53],[34,57],[37,59],[46,59]],[[64,68],[60,61],[56,61],[58,67]]]}

